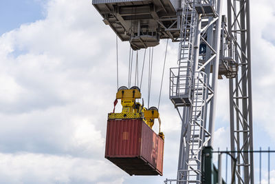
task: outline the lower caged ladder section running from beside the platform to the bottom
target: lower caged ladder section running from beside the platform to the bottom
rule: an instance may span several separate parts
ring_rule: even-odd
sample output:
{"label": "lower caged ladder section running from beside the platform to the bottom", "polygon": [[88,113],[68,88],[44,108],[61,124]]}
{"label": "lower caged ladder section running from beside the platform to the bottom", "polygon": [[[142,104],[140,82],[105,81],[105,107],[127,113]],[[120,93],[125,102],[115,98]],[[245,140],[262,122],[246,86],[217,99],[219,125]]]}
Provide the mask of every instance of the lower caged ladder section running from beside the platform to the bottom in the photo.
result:
{"label": "lower caged ladder section running from beside the platform to the bottom", "polygon": [[186,134],[186,170],[181,170],[185,183],[201,183],[201,151],[204,141],[203,107],[206,103],[206,74],[194,72],[192,105]]}

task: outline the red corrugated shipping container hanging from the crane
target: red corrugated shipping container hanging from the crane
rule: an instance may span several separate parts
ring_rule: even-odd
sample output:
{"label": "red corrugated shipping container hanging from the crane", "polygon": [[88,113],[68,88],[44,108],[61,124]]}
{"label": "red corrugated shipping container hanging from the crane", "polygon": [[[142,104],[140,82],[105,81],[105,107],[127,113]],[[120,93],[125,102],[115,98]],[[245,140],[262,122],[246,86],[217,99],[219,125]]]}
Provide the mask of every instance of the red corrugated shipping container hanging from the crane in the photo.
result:
{"label": "red corrugated shipping container hanging from the crane", "polygon": [[162,175],[164,141],[142,119],[108,120],[105,158],[130,175]]}

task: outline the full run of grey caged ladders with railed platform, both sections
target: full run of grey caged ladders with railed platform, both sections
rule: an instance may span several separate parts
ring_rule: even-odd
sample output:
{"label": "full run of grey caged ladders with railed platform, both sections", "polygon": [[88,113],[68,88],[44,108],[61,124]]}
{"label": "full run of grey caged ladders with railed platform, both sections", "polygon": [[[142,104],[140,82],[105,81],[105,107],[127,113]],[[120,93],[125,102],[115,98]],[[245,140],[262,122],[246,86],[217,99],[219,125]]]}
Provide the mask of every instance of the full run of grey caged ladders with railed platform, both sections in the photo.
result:
{"label": "full run of grey caged ladders with railed platform, both sections", "polygon": [[[206,81],[203,71],[197,72],[194,63],[195,34],[197,26],[197,1],[183,1],[181,42],[179,43],[178,68],[170,69],[170,100],[175,108],[184,107],[188,118],[181,132],[183,165],[177,173],[177,183],[201,183],[201,152],[205,142]],[[197,61],[198,62],[198,61]],[[179,110],[178,110],[179,111]],[[184,118],[184,117],[182,117]]]}

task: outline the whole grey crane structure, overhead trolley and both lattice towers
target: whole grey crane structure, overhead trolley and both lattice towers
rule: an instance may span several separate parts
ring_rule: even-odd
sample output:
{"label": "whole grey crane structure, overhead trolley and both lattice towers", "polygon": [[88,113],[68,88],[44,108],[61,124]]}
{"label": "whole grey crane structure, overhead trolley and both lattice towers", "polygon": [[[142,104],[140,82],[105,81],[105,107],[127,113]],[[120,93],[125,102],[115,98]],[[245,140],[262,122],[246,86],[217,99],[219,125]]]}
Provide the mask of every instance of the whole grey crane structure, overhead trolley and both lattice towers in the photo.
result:
{"label": "whole grey crane structure, overhead trolley and both lattice towers", "polygon": [[228,79],[230,148],[240,151],[233,155],[236,181],[254,183],[250,0],[93,4],[104,23],[133,50],[154,47],[159,39],[179,42],[177,67],[170,68],[170,100],[181,119],[179,161],[177,178],[165,182],[203,183],[201,155],[203,147],[213,146],[218,79]]}

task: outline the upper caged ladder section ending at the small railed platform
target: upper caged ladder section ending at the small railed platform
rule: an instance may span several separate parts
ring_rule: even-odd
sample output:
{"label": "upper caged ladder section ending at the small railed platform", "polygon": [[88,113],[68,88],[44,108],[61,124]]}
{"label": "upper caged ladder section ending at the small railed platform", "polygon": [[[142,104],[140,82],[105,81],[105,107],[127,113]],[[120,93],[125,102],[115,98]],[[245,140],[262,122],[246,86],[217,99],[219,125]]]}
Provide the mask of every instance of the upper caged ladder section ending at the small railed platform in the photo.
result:
{"label": "upper caged ladder section ending at the small railed platform", "polygon": [[196,25],[196,10],[187,1],[181,17],[181,41],[179,43],[178,68],[170,69],[170,100],[175,107],[189,106],[191,102],[192,56]]}

